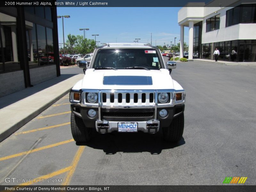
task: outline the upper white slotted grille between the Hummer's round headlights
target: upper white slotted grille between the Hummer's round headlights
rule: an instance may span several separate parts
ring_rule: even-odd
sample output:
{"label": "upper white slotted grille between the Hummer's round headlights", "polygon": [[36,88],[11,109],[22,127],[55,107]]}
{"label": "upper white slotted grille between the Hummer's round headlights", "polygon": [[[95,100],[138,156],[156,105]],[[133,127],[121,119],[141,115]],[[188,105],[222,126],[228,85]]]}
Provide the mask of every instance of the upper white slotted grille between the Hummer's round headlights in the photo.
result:
{"label": "upper white slotted grille between the Hummer's round headlights", "polygon": [[103,106],[154,106],[155,93],[102,93],[101,102]]}

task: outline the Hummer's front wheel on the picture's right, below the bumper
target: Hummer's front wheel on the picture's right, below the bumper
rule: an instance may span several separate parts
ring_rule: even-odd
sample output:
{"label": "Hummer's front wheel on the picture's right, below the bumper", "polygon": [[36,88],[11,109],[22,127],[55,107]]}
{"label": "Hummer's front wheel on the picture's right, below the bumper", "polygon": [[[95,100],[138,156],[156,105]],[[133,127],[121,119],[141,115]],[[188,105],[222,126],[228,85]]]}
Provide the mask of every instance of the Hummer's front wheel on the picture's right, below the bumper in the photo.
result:
{"label": "Hummer's front wheel on the picture's right, below the bumper", "polygon": [[184,130],[184,113],[172,119],[169,127],[163,127],[164,140],[168,142],[178,142]]}

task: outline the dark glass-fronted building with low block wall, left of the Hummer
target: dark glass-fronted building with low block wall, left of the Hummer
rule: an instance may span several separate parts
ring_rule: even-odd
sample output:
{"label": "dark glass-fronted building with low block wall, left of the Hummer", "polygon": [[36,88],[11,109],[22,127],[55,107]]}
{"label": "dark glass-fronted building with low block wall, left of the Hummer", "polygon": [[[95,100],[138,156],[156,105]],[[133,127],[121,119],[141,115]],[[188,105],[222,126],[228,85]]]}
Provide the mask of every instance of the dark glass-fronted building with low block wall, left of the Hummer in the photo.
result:
{"label": "dark glass-fronted building with low block wall, left of the Hummer", "polygon": [[0,97],[60,76],[56,7],[0,7]]}

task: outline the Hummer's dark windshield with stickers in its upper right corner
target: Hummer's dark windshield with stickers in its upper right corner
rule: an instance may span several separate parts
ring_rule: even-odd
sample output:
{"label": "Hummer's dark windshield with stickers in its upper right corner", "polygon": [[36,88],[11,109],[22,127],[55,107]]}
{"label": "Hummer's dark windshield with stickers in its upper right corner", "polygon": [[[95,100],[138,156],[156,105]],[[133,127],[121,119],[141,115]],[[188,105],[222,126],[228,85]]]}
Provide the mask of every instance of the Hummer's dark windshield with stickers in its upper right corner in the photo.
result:
{"label": "Hummer's dark windshield with stickers in its upper right corner", "polygon": [[154,49],[101,49],[92,68],[160,69],[159,57]]}

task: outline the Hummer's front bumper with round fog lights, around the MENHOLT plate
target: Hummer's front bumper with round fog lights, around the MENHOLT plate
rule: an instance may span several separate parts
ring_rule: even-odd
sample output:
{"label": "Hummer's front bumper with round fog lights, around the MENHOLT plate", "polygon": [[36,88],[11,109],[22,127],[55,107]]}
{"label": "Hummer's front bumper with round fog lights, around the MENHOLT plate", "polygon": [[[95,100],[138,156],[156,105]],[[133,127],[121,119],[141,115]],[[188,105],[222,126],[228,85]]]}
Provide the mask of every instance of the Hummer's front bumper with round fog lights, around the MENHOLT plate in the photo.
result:
{"label": "Hummer's front bumper with round fog lights, around the MENHOLT plate", "polygon": [[[96,111],[96,116],[90,117],[88,111],[94,109]],[[165,117],[159,115],[159,111],[163,108],[101,108],[99,115],[99,108],[82,107],[80,105],[71,104],[71,111],[76,116],[83,119],[86,127],[96,128],[99,133],[109,133],[117,131],[117,124],[119,122],[138,122],[138,131],[147,133],[156,133],[161,127],[168,127],[172,123],[172,119],[181,115],[184,112],[185,105],[175,105],[173,107],[166,107],[168,114]],[[126,114],[141,114],[138,115],[123,115]],[[156,115],[155,115],[156,113]],[[108,116],[111,114],[111,116]],[[118,116],[113,114],[119,114]],[[99,119],[99,117],[101,117]]]}

